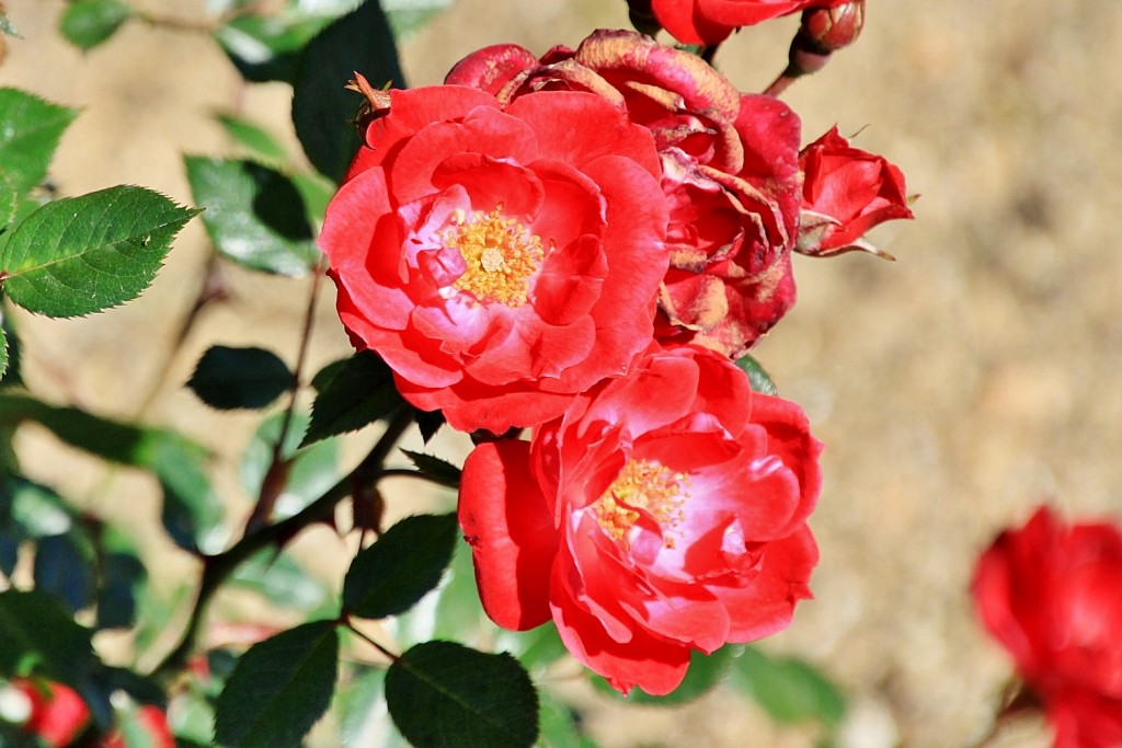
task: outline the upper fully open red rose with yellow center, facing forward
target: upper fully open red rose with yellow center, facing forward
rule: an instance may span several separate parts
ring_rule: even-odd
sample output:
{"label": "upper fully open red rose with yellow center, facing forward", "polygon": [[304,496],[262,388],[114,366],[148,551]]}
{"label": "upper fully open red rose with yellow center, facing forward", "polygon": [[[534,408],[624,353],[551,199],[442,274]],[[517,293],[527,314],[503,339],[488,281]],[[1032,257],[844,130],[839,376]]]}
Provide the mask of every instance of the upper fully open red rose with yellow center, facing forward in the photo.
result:
{"label": "upper fully open red rose with yellow center, facing forward", "polygon": [[587,93],[389,101],[320,238],[355,344],[461,431],[542,423],[626,372],[668,264],[651,133]]}

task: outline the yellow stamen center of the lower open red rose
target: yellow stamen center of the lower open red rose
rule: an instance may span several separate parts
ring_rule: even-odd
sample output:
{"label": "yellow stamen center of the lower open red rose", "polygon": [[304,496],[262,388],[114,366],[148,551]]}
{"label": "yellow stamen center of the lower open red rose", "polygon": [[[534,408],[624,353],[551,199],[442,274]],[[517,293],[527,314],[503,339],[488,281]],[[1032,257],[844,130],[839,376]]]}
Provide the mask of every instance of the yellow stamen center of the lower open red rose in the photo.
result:
{"label": "yellow stamen center of the lower open red rose", "polygon": [[592,505],[596,519],[611,539],[626,544],[631,528],[646,512],[664,530],[663,546],[672,548],[674,539],[665,530],[674,529],[684,519],[682,504],[689,498],[688,483],[686,473],[646,460],[629,460]]}

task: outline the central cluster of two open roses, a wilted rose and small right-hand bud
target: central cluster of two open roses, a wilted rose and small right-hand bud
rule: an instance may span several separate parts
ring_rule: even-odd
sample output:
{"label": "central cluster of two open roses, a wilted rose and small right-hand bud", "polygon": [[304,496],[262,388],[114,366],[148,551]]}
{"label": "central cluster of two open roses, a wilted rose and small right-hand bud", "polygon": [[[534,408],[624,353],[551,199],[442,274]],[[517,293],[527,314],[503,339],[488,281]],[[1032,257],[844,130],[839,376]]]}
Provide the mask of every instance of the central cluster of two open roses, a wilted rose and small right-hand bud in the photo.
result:
{"label": "central cluster of two open roses, a wilted rose and small right-hand bud", "polygon": [[488,615],[552,620],[652,694],[691,652],[783,628],[810,597],[821,447],[734,361],[794,303],[792,252],[911,215],[899,169],[836,131],[800,151],[789,107],[629,31],[369,94],[320,239],[339,315],[414,406],[533,430],[463,469]]}

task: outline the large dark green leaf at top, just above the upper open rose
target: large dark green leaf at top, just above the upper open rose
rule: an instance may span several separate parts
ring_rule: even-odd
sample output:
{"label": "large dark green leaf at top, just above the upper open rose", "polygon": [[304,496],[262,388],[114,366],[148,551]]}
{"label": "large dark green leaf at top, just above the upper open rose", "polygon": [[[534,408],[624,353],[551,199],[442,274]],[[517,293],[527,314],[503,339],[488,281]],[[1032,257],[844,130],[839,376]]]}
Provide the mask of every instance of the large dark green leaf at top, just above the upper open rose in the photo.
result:
{"label": "large dark green leaf at top, just above the upper open rose", "polygon": [[312,165],[337,183],[359,145],[350,122],[362,99],[343,87],[356,71],[375,87],[405,87],[394,35],[377,0],[367,0],[312,39],[294,84],[296,137]]}

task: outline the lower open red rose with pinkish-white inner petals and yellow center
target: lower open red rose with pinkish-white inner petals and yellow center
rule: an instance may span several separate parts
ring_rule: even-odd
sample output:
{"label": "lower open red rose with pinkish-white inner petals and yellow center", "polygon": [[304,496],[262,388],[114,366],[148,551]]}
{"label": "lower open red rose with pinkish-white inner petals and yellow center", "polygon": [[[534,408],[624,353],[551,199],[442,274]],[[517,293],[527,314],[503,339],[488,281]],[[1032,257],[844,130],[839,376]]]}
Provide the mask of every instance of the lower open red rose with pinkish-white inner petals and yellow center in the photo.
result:
{"label": "lower open red rose with pinkish-white inner petals and yellow center", "polygon": [[649,354],[532,442],[468,456],[459,517],[484,608],[551,618],[613,686],[672,691],[692,650],[784,628],[818,548],[821,445],[793,403],[720,354]]}

